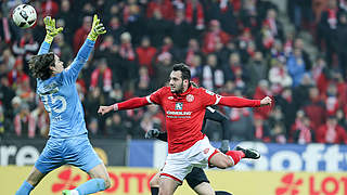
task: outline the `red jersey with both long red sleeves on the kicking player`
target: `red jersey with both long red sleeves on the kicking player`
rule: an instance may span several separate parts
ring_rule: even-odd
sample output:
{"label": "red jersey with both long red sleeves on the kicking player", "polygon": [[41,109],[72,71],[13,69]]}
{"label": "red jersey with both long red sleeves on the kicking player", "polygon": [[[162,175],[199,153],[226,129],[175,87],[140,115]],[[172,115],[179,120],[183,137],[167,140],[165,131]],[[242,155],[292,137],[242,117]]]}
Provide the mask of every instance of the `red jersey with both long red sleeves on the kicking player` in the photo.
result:
{"label": "red jersey with both long red sleeves on the kicking player", "polygon": [[132,109],[158,104],[165,110],[168,153],[180,153],[204,138],[201,132],[205,108],[209,105],[230,107],[260,106],[260,100],[248,100],[237,96],[221,96],[204,88],[190,87],[185,92],[177,94],[169,87],[163,87],[146,98],[133,98],[114,104],[115,110]]}

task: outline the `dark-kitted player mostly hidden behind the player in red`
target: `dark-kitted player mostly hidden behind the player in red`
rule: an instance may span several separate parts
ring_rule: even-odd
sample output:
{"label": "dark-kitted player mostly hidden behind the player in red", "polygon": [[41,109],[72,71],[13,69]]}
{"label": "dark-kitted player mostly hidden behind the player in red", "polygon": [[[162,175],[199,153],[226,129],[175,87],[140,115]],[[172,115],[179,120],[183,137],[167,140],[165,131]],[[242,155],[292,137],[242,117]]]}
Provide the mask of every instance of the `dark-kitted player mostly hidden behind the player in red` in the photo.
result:
{"label": "dark-kitted player mostly hidden behind the player in red", "polygon": [[[226,153],[230,151],[229,140],[230,135],[228,134],[228,117],[221,114],[219,110],[216,110],[211,107],[206,107],[204,122],[202,129],[204,129],[206,125],[206,119],[218,121],[222,126],[222,139],[220,151]],[[167,133],[162,132],[158,129],[151,129],[145,133],[146,139],[156,138],[164,142],[167,142]],[[191,188],[193,188],[196,194],[205,195],[205,194],[216,194],[216,195],[230,195],[230,193],[223,191],[214,191],[209,184],[209,181],[202,168],[194,167],[192,171],[187,174],[184,178]],[[159,191],[159,173],[155,174],[153,179],[150,181],[151,193],[152,195],[157,195]]]}

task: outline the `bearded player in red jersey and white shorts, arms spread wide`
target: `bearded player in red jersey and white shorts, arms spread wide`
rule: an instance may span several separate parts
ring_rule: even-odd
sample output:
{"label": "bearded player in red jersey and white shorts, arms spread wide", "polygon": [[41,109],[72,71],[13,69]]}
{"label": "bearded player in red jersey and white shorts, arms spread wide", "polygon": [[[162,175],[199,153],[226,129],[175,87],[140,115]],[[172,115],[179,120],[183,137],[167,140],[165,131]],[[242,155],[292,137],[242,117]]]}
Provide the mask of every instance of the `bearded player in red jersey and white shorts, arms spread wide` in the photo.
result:
{"label": "bearded player in red jersey and white shorts, arms spread wide", "polygon": [[193,167],[204,168],[210,164],[226,169],[236,165],[242,158],[260,157],[258,152],[242,147],[222,154],[210,145],[201,129],[205,108],[209,105],[258,107],[270,105],[271,99],[221,96],[204,88],[192,87],[190,79],[189,67],[176,64],[170,74],[169,87],[163,87],[145,98],[133,98],[110,106],[100,106],[98,110],[104,115],[111,110],[132,109],[151,103],[163,107],[168,133],[168,155],[160,172],[160,195],[174,194]]}

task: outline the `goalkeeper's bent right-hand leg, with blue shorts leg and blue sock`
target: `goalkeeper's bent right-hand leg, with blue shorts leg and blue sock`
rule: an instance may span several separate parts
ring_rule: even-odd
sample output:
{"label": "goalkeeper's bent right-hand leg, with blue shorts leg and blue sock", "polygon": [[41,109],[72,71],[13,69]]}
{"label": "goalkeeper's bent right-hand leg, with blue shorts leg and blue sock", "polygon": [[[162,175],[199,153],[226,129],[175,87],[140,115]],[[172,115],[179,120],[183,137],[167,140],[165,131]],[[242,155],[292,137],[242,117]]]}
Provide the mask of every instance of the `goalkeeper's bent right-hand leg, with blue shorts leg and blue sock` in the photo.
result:
{"label": "goalkeeper's bent right-hand leg, with blue shorts leg and blue sock", "polygon": [[72,191],[63,191],[64,195],[93,194],[111,186],[107,170],[92,148],[87,135],[66,140],[65,158],[69,165],[86,171],[91,177],[91,180]]}

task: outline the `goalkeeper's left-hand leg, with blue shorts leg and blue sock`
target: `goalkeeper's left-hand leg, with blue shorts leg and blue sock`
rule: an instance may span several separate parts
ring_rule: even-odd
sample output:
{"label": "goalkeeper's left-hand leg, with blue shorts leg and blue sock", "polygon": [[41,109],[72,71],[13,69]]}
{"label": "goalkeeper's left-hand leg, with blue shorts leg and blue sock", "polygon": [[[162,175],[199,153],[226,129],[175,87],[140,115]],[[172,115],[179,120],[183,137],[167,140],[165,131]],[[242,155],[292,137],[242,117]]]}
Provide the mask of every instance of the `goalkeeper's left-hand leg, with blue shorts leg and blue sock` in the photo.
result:
{"label": "goalkeeper's left-hand leg, with blue shorts leg and blue sock", "polygon": [[31,169],[28,178],[23,182],[16,195],[27,195],[35,188],[35,186],[44,178],[50,171],[64,165],[61,156],[62,142],[56,139],[49,139],[46,146],[39,156],[38,160]]}

